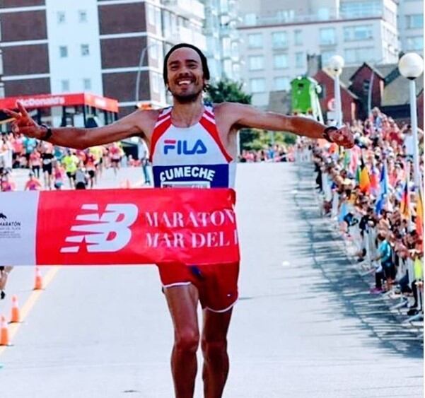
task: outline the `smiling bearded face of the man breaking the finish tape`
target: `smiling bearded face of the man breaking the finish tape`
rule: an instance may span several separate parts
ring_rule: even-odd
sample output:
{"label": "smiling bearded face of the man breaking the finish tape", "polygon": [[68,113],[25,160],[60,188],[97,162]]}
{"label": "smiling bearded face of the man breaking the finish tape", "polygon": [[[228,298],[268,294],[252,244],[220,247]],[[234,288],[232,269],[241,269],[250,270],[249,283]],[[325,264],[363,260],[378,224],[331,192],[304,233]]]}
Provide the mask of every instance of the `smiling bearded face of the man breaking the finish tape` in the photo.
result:
{"label": "smiling bearded face of the man breaking the finish tape", "polygon": [[176,49],[167,62],[168,89],[180,103],[194,102],[202,95],[205,80],[202,62],[194,49]]}

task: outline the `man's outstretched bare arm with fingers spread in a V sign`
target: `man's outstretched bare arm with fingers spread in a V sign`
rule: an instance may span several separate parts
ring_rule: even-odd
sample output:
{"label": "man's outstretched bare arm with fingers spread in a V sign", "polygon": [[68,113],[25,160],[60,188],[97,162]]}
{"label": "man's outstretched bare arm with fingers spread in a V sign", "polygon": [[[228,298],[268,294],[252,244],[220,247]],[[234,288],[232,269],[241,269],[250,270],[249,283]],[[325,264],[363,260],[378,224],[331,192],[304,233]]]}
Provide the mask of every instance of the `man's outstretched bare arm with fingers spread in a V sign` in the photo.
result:
{"label": "man's outstretched bare arm with fingers spread in a V sign", "polygon": [[142,136],[144,134],[143,126],[141,125],[141,123],[143,124],[143,118],[138,117],[136,112],[104,127],[96,127],[94,129],[61,127],[50,129],[50,133],[46,127],[37,124],[28,115],[27,110],[25,110],[25,107],[21,103],[17,103],[17,105],[19,112],[4,110],[4,112],[14,118],[13,122],[11,122],[12,131],[36,139],[49,141],[58,146],[83,149],[89,146],[109,144],[130,136]]}

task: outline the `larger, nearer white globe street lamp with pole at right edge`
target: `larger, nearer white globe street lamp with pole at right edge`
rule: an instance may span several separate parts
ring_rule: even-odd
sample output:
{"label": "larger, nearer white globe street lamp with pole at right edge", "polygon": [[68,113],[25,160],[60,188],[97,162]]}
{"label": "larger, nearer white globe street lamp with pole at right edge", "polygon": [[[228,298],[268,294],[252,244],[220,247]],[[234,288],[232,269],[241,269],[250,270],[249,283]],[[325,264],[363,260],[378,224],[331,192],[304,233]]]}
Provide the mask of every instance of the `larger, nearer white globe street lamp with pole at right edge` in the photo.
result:
{"label": "larger, nearer white globe street lamp with pole at right edge", "polygon": [[409,79],[410,90],[410,120],[413,132],[413,166],[414,166],[414,185],[416,189],[420,189],[421,171],[419,169],[419,151],[418,151],[418,118],[417,118],[417,101],[416,101],[416,82],[417,77],[421,76],[424,71],[424,59],[419,54],[408,52],[404,54],[398,62],[400,74]]}

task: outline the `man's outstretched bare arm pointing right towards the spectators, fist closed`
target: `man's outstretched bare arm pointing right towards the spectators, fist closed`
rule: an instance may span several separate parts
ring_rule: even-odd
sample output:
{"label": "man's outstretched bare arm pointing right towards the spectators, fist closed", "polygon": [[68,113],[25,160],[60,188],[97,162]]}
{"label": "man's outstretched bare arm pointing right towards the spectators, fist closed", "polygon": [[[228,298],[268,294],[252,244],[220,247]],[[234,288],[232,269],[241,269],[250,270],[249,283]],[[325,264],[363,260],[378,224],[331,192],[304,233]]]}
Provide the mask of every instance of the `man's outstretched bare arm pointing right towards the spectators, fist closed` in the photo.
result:
{"label": "man's outstretched bare arm pointing right towards the spectators, fist closed", "polygon": [[[307,117],[286,116],[274,112],[264,112],[250,105],[223,103],[223,112],[233,118],[235,127],[252,127],[273,131],[289,131],[312,139],[328,139],[339,145],[351,148],[354,138],[347,127],[329,129],[324,124]],[[324,135],[325,133],[325,135]]]}

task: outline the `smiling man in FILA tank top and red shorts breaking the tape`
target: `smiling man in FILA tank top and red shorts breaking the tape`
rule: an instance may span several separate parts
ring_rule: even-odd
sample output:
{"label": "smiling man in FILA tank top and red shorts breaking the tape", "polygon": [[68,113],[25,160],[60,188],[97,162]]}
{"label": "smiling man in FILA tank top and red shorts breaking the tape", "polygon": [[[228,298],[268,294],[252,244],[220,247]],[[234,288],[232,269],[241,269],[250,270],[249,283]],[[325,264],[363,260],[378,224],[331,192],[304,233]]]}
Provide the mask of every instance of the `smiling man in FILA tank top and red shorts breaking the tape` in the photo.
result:
{"label": "smiling man in FILA tank top and red shorts breaking the tape", "polygon": [[[149,145],[155,187],[233,187],[237,131],[241,127],[291,131],[313,139],[325,138],[351,147],[354,139],[344,127],[325,127],[305,117],[263,112],[250,105],[206,105],[202,92],[209,80],[206,57],[192,45],[176,45],[164,59],[163,78],[173,95],[173,107],[136,110],[114,124],[95,129],[40,126],[23,105],[12,128],[55,145],[87,148],[139,136]],[[182,172],[183,171],[183,172]],[[194,394],[196,352],[204,355],[204,396],[218,398],[228,375],[227,332],[238,299],[239,264],[162,266],[163,291],[174,325],[171,370],[177,398]],[[203,310],[199,332],[197,305]]]}

